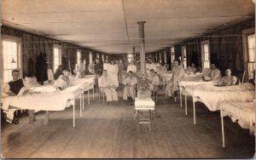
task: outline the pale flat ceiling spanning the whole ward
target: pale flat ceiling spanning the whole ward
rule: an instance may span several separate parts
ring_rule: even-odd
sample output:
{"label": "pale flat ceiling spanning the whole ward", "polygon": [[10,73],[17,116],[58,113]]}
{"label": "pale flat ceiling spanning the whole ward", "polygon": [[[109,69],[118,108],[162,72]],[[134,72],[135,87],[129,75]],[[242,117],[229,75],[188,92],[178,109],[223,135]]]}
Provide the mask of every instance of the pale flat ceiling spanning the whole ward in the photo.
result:
{"label": "pale flat ceiling spanning the whole ward", "polygon": [[2,0],[2,24],[109,54],[146,52],[254,16],[252,0]]}

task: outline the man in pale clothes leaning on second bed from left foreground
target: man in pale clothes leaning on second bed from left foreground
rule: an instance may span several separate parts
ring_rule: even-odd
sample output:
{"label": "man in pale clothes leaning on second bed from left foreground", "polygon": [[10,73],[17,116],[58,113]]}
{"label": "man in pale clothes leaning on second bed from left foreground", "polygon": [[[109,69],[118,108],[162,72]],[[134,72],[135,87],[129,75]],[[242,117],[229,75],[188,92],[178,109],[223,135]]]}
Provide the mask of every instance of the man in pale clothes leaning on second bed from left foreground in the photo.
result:
{"label": "man in pale clothes leaning on second bed from left foreground", "polygon": [[69,87],[70,86],[69,76],[70,76],[70,71],[64,70],[63,75],[58,77],[58,79],[55,81],[54,83],[55,88],[62,90]]}

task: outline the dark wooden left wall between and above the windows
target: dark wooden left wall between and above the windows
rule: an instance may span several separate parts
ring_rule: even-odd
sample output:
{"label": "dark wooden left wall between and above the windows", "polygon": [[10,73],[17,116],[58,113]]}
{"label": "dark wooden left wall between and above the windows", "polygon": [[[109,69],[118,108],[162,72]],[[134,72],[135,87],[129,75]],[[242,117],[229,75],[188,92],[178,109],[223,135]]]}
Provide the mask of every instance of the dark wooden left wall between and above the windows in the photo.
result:
{"label": "dark wooden left wall between and above the windows", "polygon": [[100,54],[101,59],[102,54],[105,54],[91,49],[82,48],[81,46],[73,43],[61,42],[49,37],[38,36],[30,32],[20,31],[9,26],[2,26],[1,34],[21,38],[24,77],[35,76],[36,60],[40,52],[47,54],[47,61],[53,64],[54,44],[61,45],[61,64],[64,69],[71,69],[71,71],[73,71],[74,66],[77,63],[77,49],[81,49],[81,56],[86,60],[86,63],[89,63],[90,61],[90,51],[92,51],[93,60],[96,59],[96,53]]}

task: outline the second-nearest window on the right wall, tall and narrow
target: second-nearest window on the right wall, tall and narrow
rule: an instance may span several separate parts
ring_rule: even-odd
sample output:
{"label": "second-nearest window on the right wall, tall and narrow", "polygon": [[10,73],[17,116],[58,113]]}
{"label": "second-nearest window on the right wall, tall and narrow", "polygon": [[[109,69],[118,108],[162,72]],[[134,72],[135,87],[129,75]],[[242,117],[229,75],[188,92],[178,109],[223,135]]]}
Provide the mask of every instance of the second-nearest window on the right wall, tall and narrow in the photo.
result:
{"label": "second-nearest window on the right wall, tall and narrow", "polygon": [[210,68],[209,41],[201,42],[202,69]]}

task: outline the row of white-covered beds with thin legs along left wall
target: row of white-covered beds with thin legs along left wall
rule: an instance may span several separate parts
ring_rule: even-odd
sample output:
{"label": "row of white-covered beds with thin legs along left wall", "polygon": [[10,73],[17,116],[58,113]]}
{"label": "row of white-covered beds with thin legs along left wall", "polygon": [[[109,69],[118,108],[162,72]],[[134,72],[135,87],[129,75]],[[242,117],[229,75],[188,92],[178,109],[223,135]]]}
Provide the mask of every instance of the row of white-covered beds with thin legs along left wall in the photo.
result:
{"label": "row of white-covered beds with thin legs along left wall", "polygon": [[63,90],[55,89],[52,84],[30,85],[30,91],[26,95],[2,96],[1,108],[7,114],[14,115],[17,110],[47,111],[48,113],[48,111],[63,111],[65,108],[73,106],[73,127],[75,127],[75,101],[79,99],[80,117],[82,117],[84,92],[88,92],[88,105],[90,105],[89,90],[94,89],[95,75],[80,79],[73,77],[70,79],[70,84],[71,87]]}

